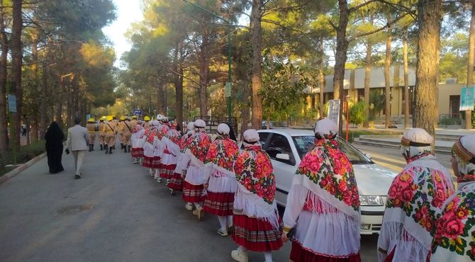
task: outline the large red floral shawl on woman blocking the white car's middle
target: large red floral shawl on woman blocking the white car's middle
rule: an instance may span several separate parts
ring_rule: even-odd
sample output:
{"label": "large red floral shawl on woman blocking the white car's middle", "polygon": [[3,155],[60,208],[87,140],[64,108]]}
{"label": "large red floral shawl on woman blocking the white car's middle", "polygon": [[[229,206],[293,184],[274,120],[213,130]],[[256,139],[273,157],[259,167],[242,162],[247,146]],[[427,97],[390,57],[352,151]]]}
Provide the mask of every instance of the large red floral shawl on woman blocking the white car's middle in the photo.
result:
{"label": "large red floral shawl on woman blocking the white car's middle", "polygon": [[308,177],[333,198],[358,211],[359,194],[353,166],[337,146],[335,139],[315,139],[315,148],[303,157],[296,174]]}

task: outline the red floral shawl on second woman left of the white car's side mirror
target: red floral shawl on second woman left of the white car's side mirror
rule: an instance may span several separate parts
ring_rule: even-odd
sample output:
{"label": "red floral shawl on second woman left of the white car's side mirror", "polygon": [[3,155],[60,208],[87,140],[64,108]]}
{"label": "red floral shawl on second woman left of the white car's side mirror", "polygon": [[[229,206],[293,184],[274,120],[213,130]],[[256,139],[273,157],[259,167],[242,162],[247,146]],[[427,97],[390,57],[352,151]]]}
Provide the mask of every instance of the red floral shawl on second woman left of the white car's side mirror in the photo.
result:
{"label": "red floral shawl on second woman left of the white car's side mirror", "polygon": [[218,135],[209,147],[204,163],[211,163],[232,172],[233,164],[238,154],[238,145],[228,135]]}

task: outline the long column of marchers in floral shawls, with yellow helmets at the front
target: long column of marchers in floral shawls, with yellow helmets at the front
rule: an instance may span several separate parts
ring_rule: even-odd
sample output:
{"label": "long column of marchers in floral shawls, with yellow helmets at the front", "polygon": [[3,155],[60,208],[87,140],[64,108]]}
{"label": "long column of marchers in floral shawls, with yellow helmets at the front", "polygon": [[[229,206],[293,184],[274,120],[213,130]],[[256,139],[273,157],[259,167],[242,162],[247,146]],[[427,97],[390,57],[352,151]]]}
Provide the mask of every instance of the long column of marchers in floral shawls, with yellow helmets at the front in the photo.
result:
{"label": "long column of marchers in floral shawls, with yellow helmets at the front", "polygon": [[[332,120],[316,123],[314,147],[298,166],[282,218],[272,163],[256,130],[246,130],[238,141],[233,128],[222,123],[211,139],[205,121],[196,120],[181,135],[177,123],[163,115],[144,121],[109,118],[100,125],[106,154],[119,133],[133,164],[148,169],[172,195],[180,191],[186,210],[198,220],[216,216],[217,234],[230,235],[238,245],[231,251],[236,261],[248,261],[248,251],[272,261],[272,251],[288,240],[290,261],[361,261],[357,181],[350,159],[338,148]],[[433,154],[433,142],[423,129],[403,134],[407,165],[386,198],[379,261],[475,260],[475,135],[461,137],[452,148],[457,188]]]}

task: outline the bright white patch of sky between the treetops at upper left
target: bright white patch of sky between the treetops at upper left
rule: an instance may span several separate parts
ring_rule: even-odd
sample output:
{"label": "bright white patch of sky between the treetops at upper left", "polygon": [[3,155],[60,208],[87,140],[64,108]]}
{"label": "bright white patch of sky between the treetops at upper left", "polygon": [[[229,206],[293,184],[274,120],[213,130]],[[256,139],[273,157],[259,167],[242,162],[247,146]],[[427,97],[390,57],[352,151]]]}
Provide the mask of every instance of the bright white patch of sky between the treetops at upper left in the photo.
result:
{"label": "bright white patch of sky between the treetops at upper left", "polygon": [[117,19],[111,25],[103,28],[102,31],[113,42],[116,50],[116,67],[120,67],[123,52],[130,50],[131,44],[125,38],[125,32],[132,23],[143,20],[142,10],[140,10],[140,0],[113,0],[116,5]]}

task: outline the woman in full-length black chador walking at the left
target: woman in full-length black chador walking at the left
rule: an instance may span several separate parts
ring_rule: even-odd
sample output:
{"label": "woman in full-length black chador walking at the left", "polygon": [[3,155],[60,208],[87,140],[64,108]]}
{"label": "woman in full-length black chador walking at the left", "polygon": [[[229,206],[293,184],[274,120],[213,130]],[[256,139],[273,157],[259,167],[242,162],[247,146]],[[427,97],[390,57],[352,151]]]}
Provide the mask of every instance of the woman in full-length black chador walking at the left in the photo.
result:
{"label": "woman in full-length black chador walking at the left", "polygon": [[62,157],[62,142],[65,139],[65,134],[61,127],[53,121],[50,127],[47,128],[46,135],[46,154],[47,165],[50,167],[50,173],[58,173],[64,171],[61,164]]}

